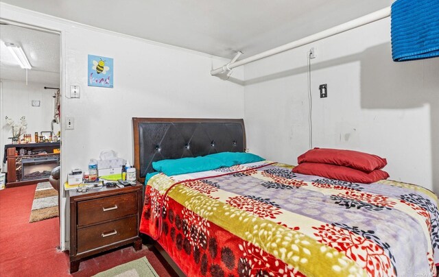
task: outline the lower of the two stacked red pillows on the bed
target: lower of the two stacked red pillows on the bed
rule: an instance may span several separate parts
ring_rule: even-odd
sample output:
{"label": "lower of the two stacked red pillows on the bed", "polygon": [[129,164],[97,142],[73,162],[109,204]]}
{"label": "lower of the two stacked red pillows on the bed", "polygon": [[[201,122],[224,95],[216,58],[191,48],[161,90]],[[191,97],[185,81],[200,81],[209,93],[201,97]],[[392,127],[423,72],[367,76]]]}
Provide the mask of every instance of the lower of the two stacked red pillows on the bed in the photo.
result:
{"label": "lower of the two stacked red pillows on the bed", "polygon": [[294,167],[293,172],[362,184],[370,184],[389,178],[389,174],[387,172],[379,169],[367,173],[351,167],[327,165],[324,163],[315,162],[303,162],[297,167]]}

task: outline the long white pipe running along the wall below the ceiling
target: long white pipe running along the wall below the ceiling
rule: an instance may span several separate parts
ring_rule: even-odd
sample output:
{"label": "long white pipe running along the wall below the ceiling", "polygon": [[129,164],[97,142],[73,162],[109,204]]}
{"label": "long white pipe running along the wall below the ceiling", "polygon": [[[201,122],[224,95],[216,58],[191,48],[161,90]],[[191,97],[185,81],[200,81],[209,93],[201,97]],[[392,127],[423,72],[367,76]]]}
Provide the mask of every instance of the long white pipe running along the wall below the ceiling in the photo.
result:
{"label": "long white pipe running along the wall below the ceiling", "polygon": [[267,58],[278,53],[285,52],[290,49],[294,49],[303,45],[307,45],[309,43],[313,43],[317,40],[321,40],[323,38],[329,38],[330,36],[334,36],[336,34],[340,34],[342,32],[346,32],[350,29],[355,29],[357,27],[361,27],[363,25],[379,21],[380,19],[385,19],[390,16],[391,8],[383,8],[382,10],[378,10],[377,12],[372,12],[371,14],[367,14],[365,16],[361,16],[358,19],[354,19],[353,21],[348,21],[341,25],[337,25],[335,27],[326,29],[322,32],[318,32],[317,34],[313,34],[311,36],[307,36],[305,38],[301,38],[300,40],[296,40],[292,43],[287,43],[286,45],[282,45],[268,51],[264,51],[262,53],[256,54],[254,56],[245,58],[244,60],[239,60],[237,62],[230,62],[228,64],[224,64],[223,67],[218,67],[217,69],[213,69],[211,71],[211,75],[217,75],[218,73],[224,73],[225,71],[230,71],[235,67],[240,67],[241,65],[248,64],[250,62],[254,62],[256,60],[261,60],[263,58]]}

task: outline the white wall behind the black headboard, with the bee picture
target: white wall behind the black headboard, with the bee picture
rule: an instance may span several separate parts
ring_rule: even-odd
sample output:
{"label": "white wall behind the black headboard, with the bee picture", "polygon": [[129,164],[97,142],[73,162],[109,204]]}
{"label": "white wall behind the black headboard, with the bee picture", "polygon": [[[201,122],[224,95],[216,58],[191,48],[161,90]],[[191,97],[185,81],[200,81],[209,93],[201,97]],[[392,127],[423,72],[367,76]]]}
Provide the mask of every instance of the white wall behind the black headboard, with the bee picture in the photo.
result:
{"label": "white wall behind the black headboard, with the bee picture", "polygon": [[[244,86],[210,75],[213,67],[227,60],[4,3],[0,3],[0,17],[61,32],[65,62],[61,117],[75,118],[75,130],[62,132],[62,182],[69,170],[84,169],[88,159],[98,158],[104,149],[114,149],[132,162],[132,117],[244,117]],[[114,58],[114,88],[87,86],[88,54]],[[233,77],[242,79],[242,69]],[[80,99],[64,96],[71,85],[80,86]],[[67,207],[65,198],[62,207]],[[64,235],[69,238],[68,218],[61,220],[62,247],[68,248],[68,243],[63,244]]]}

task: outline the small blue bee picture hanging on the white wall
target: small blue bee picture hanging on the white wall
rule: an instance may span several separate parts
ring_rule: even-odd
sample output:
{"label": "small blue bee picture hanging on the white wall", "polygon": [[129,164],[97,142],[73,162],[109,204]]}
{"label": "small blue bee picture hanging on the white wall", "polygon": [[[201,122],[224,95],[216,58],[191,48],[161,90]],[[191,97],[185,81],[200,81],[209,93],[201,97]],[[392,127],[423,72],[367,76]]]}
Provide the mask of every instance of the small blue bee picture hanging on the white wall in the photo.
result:
{"label": "small blue bee picture hanging on the white wall", "polygon": [[112,58],[88,55],[88,86],[112,88]]}

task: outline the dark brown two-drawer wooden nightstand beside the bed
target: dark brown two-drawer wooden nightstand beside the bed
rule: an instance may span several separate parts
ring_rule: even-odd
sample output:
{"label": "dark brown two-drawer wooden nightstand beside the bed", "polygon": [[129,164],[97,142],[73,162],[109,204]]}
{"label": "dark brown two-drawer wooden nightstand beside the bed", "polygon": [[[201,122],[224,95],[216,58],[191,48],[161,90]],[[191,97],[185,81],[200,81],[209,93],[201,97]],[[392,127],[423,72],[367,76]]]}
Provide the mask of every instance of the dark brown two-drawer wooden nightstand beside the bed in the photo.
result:
{"label": "dark brown two-drawer wooden nightstand beside the bed", "polygon": [[70,193],[70,273],[82,258],[134,243],[141,250],[142,185]]}

